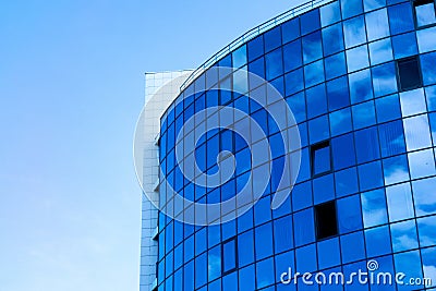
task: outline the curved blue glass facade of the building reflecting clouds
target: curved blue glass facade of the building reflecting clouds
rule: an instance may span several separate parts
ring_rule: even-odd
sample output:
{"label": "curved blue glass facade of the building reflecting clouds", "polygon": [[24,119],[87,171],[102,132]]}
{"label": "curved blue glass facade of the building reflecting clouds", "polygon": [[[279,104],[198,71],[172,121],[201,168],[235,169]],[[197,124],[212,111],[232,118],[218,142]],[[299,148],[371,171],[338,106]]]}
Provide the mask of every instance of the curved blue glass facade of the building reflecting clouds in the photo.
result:
{"label": "curved blue glass facade of the building reflecting clouds", "polygon": [[[395,282],[280,282],[289,267],[301,274],[350,274],[366,269],[368,259],[384,271],[433,278],[427,289],[436,286],[434,3],[387,1],[329,2],[257,36],[216,64],[257,74],[286,97],[300,130],[301,169],[291,195],[275,210],[272,173],[255,206],[223,225],[195,227],[160,214],[159,291],[424,290]],[[161,119],[162,172],[175,191],[202,203],[238,193],[252,167],[246,142],[232,131],[216,130],[201,133],[196,148],[185,155],[195,155],[201,170],[214,173],[218,153],[229,150],[238,161],[232,178],[208,189],[183,177],[175,161],[177,136],[189,118],[207,107],[249,113],[277,145],[270,159],[283,162],[277,124],[247,97],[266,89],[265,84],[211,72],[186,87],[183,101]],[[247,96],[209,89],[226,82]],[[192,95],[194,89],[203,93]],[[196,131],[183,134],[191,138]],[[162,190],[161,195],[161,202],[171,199]],[[189,210],[168,207],[174,206],[161,205],[174,217]],[[332,226],[323,225],[323,217],[331,215]]]}

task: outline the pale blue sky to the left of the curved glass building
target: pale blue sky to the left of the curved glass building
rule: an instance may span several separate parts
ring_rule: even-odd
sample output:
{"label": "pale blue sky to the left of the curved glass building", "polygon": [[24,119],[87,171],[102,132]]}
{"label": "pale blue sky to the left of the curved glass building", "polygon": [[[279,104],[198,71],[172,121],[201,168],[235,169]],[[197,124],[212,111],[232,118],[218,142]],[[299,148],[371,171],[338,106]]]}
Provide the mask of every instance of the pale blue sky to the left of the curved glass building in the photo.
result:
{"label": "pale blue sky to the left of the curved glass building", "polygon": [[2,1],[0,291],[137,290],[144,72],[196,68],[295,2]]}

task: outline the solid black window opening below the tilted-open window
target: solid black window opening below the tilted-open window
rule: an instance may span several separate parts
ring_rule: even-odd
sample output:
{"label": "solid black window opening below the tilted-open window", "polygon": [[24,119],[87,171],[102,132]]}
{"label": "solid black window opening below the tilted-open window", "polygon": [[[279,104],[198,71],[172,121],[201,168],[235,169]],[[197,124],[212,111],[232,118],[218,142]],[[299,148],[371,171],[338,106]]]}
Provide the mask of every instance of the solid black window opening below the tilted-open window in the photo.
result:
{"label": "solid black window opening below the tilted-open window", "polygon": [[316,239],[322,240],[338,234],[335,201],[315,206]]}

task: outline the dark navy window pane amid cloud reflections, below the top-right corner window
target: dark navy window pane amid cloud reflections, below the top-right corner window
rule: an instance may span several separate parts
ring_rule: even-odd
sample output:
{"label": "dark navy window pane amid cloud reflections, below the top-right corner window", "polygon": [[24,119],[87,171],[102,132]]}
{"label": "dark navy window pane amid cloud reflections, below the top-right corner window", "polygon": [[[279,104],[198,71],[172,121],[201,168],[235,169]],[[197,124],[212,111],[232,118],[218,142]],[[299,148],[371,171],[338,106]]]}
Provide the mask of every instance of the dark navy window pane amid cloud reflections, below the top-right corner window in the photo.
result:
{"label": "dark navy window pane amid cloud reflections, below the top-right corner window", "polygon": [[400,90],[422,87],[421,72],[416,57],[397,61],[397,71]]}

